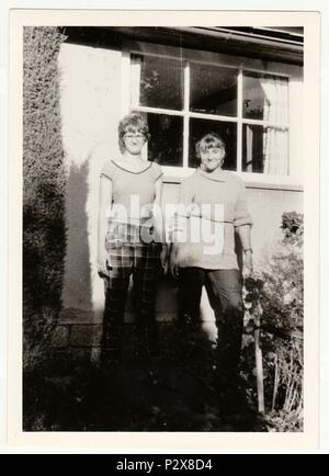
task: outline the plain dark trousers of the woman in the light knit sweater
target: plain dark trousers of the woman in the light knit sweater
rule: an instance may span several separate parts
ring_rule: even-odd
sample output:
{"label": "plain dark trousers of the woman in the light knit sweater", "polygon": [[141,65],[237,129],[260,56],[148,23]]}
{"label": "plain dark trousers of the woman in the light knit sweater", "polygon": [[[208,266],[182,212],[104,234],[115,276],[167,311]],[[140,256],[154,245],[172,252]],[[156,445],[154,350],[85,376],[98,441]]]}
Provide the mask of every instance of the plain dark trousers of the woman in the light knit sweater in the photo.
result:
{"label": "plain dark trousers of the woman in the light knit sweater", "polygon": [[218,375],[230,381],[237,376],[243,328],[242,283],[238,270],[181,268],[179,305],[181,322],[200,322],[203,285],[215,313]]}

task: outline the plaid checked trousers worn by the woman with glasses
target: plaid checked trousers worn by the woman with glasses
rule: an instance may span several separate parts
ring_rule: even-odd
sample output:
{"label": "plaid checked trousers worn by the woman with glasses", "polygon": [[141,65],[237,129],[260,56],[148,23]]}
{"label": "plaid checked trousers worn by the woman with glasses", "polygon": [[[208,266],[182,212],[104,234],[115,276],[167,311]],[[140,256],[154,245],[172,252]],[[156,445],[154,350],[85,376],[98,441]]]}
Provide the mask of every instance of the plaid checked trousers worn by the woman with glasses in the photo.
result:
{"label": "plaid checked trousers worn by the woman with glasses", "polygon": [[160,243],[145,243],[140,225],[111,224],[106,233],[109,277],[105,282],[105,309],[102,352],[114,359],[122,348],[122,330],[131,276],[137,329],[148,339],[156,338],[155,297],[160,271]]}

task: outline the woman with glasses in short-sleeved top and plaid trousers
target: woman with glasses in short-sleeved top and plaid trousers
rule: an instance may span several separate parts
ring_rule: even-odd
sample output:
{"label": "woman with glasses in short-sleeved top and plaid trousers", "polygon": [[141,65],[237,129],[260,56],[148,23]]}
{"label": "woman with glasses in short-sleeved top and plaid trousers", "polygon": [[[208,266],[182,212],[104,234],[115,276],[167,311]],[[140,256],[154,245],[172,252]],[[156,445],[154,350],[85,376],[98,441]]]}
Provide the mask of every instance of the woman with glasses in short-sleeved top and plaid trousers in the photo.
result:
{"label": "woman with glasses in short-sleeved top and plaid trousers", "polygon": [[[100,175],[98,271],[105,283],[102,355],[117,360],[131,275],[136,324],[148,353],[156,345],[155,295],[160,263],[166,265],[161,219],[162,171],[141,158],[149,138],[138,114],[118,124],[122,156],[106,160]],[[158,207],[156,207],[157,205]]]}

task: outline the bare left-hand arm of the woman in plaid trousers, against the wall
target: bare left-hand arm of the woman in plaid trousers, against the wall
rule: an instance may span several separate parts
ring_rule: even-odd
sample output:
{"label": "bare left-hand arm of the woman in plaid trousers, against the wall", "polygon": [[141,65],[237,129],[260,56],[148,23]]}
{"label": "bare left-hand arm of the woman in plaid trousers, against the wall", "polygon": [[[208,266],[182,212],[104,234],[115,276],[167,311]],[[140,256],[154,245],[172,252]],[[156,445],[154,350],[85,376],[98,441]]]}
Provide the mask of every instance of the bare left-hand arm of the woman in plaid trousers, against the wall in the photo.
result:
{"label": "bare left-hand arm of the woman in plaid trousers, against the wall", "polygon": [[100,179],[99,218],[98,218],[98,272],[107,275],[107,252],[105,249],[106,211],[112,203],[112,181],[105,177]]}

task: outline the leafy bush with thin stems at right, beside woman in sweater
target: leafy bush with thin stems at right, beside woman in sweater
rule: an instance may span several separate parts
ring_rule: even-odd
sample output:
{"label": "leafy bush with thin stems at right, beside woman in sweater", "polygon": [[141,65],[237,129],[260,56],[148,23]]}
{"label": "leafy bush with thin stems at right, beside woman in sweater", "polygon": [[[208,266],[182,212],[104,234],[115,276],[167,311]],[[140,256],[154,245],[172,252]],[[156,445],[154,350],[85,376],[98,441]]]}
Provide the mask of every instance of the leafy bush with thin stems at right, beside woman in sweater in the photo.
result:
{"label": "leafy bush with thin stems at right, beside woman in sweater", "polygon": [[[261,263],[257,280],[246,283],[243,375],[254,382],[253,338],[257,318],[261,325],[265,421],[274,431],[300,431],[303,427],[303,319],[304,263],[303,215],[282,216],[283,238]],[[259,313],[259,307],[260,313]],[[258,314],[260,314],[258,316]],[[256,388],[251,394],[256,398]]]}

